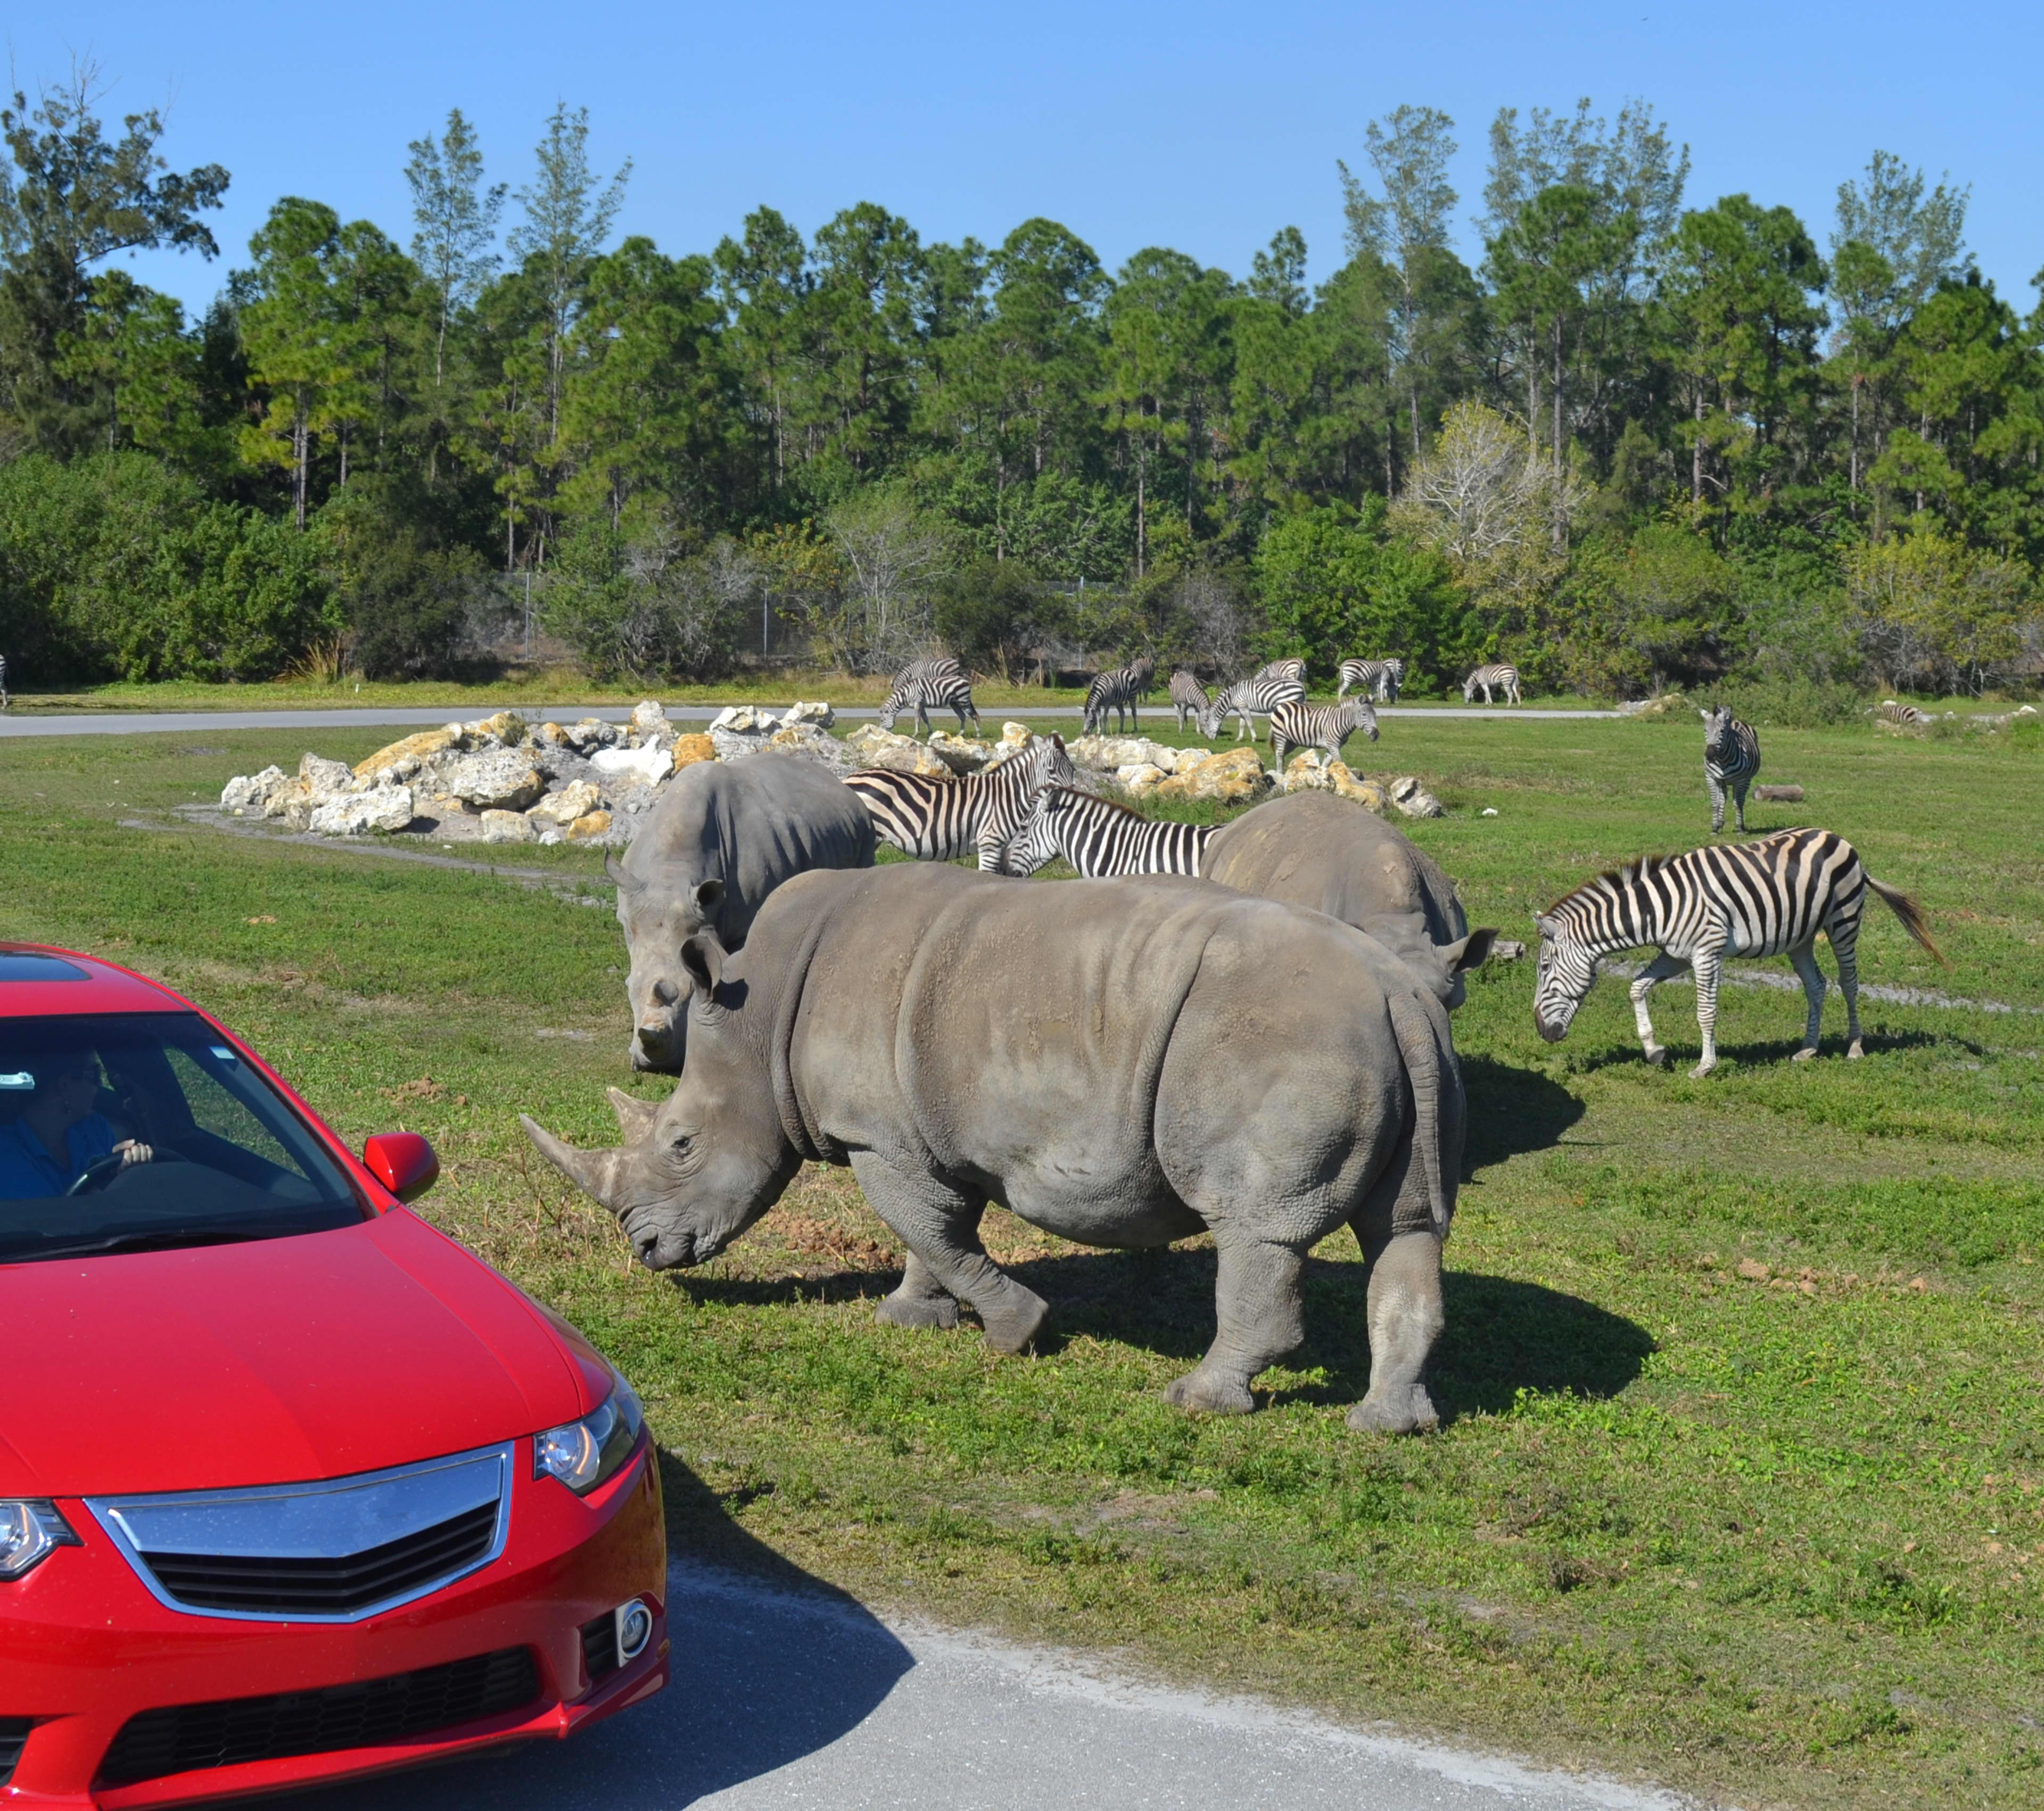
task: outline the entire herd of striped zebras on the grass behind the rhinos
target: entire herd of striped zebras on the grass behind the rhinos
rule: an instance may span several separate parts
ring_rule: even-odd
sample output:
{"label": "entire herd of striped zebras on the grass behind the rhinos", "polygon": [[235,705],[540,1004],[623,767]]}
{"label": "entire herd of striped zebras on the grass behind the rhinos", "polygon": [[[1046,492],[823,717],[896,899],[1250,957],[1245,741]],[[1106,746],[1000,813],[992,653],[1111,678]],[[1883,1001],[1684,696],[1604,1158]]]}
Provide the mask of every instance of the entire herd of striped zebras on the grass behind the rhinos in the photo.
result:
{"label": "entire herd of striped zebras on the grass behind the rhinos", "polygon": [[[1085,730],[1106,726],[1106,713],[1128,711],[1155,681],[1149,660],[1102,672],[1085,699]],[[1333,758],[1353,730],[1378,726],[1372,695],[1396,699],[1404,679],[1398,660],[1347,660],[1333,705],[1306,705],[1304,664],[1278,660],[1245,681],[1208,695],[1183,668],[1171,675],[1171,707],[1179,730],[1198,722],[1212,738],[1226,717],[1237,719],[1237,740],[1255,736],[1255,717],[1269,717],[1280,769],[1288,746],[1322,746]],[[1355,697],[1347,693],[1355,689]],[[1511,666],[1480,666],[1464,683],[1464,697],[1492,689],[1519,701],[1519,675]],[[881,722],[910,707],[946,705],[965,717],[971,689],[955,662],[918,662],[889,693]],[[1711,795],[1711,834],[1725,828],[1727,797],[1737,830],[1746,834],[1746,797],[1760,773],[1760,736],[1729,705],[1699,711],[1705,724],[1703,773]],[[1120,726],[1120,715],[1116,715]],[[873,814],[879,836],[918,861],[977,856],[987,873],[1034,875],[1063,858],[1083,879],[1118,875],[1198,877],[1218,826],[1145,818],[1104,799],[1083,785],[1063,738],[1049,736],[989,773],[942,779],[899,773],[854,773],[846,779]],[[1697,1024],[1703,1059],[1690,1071],[1709,1075],[1717,1065],[1717,987],[1731,957],[1788,957],[1809,1006],[1797,1061],[1817,1055],[1825,981],[1817,969],[1817,938],[1831,944],[1838,985],[1846,995],[1848,1057],[1862,1053],[1858,1000],[1858,936],[1866,895],[1880,897],[1903,928],[1940,963],[1923,914],[1905,893],[1872,879],[1858,852],[1829,830],[1780,830],[1758,842],[1709,844],[1678,856],[1650,856],[1598,875],[1539,914],[1539,961],[1533,1018],[1539,1034],[1558,1040],[1596,979],[1598,963],[1631,948],[1656,948],[1654,961],[1631,983],[1633,1018],[1650,1063],[1668,1053],[1654,1036],[1647,993],[1684,971],[1697,979]]]}

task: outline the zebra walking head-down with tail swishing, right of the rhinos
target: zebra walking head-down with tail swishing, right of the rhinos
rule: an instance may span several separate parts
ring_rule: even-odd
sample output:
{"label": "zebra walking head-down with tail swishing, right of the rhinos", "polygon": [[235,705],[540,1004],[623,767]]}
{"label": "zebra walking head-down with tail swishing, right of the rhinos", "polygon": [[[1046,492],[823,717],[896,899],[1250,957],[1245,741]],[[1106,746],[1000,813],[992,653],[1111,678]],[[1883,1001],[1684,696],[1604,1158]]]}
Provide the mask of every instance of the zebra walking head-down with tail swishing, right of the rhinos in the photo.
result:
{"label": "zebra walking head-down with tail swishing, right of the rhinos", "polygon": [[1703,1026],[1703,1061],[1690,1075],[1717,1067],[1717,977],[1725,957],[1784,955],[1803,977],[1809,1028],[1799,1063],[1817,1055],[1823,1020],[1823,975],[1817,969],[1817,932],[1831,940],[1838,985],[1846,993],[1848,1057],[1860,1055],[1860,912],[1872,887],[1923,948],[1942,963],[1915,899],[1883,887],[1852,844],[1829,830],[1782,830],[1760,842],[1721,842],[1688,854],[1647,856],[1617,873],[1598,875],[1566,899],[1535,914],[1539,969],[1533,983],[1533,1022],[1549,1044],[1568,1034],[1596,963],[1617,950],[1658,944],[1660,955],[1633,981],[1633,1018],[1650,1063],[1668,1051],[1654,1042],[1647,993],[1656,981],[1697,971],[1697,1024]]}

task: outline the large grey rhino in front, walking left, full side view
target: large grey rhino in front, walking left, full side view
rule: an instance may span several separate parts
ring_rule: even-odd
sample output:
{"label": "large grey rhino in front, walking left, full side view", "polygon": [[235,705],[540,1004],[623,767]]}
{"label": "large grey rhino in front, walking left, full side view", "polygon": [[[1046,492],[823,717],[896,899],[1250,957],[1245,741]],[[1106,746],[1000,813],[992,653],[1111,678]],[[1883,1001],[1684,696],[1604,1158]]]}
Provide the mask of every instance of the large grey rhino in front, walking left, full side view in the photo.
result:
{"label": "large grey rhino in front, walking left, full side view", "polygon": [[1347,1224],[1372,1353],[1349,1425],[1435,1425],[1461,1077],[1447,1014],[1367,936],[1181,877],[903,863],[801,875],[744,950],[699,932],[683,961],[689,1063],[662,1106],[611,1092],[630,1143],[523,1122],[652,1269],[715,1257],[803,1161],[848,1163],[910,1249],[879,1318],[955,1327],[967,1302],[1018,1353],[1047,1308],[981,1247],[989,1200],[1081,1245],[1210,1230],[1218,1331],[1165,1394],[1241,1414],[1304,1337],[1306,1253]]}

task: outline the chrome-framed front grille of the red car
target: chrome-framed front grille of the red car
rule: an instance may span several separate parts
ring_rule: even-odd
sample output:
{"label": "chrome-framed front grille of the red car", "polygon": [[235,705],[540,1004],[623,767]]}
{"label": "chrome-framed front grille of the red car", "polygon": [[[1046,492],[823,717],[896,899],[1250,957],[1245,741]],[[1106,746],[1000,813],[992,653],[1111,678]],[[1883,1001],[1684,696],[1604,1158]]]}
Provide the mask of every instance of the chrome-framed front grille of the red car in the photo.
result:
{"label": "chrome-framed front grille of the red car", "polygon": [[511,1447],[323,1484],[92,1498],[100,1527],[172,1609],[354,1623],[503,1551]]}

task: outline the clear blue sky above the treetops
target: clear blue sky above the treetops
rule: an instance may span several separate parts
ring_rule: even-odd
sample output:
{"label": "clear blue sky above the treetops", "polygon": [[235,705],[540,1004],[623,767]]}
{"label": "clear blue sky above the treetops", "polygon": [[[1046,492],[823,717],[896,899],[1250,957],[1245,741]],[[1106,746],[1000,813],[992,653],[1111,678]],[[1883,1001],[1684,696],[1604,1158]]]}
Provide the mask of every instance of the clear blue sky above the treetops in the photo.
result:
{"label": "clear blue sky above the treetops", "polygon": [[[771,202],[803,231],[856,200],[928,239],[997,241],[1051,215],[1114,268],[1173,245],[1245,274],[1284,225],[1312,278],[1341,258],[1335,159],[1398,102],[1457,121],[1464,213],[1498,106],[1600,112],[1650,100],[1692,155],[1690,204],[1786,202],[1819,247],[1840,180],[1874,147],[1972,184],[1968,243],[2030,307],[2044,266],[2044,6],[1748,4],[1674,8],[1304,0],[1038,0],[609,6],[102,4],[6,27],[14,82],[96,57],[108,114],[166,104],[178,168],[233,172],[223,258],[141,258],[137,276],[204,303],[278,194],[409,239],[405,143],[460,106],[493,180],[521,182],[556,98],[591,108],[605,168],[634,159],[619,231],[707,251]],[[1466,227],[1464,253],[1480,251]]]}

